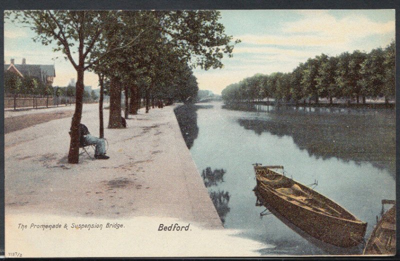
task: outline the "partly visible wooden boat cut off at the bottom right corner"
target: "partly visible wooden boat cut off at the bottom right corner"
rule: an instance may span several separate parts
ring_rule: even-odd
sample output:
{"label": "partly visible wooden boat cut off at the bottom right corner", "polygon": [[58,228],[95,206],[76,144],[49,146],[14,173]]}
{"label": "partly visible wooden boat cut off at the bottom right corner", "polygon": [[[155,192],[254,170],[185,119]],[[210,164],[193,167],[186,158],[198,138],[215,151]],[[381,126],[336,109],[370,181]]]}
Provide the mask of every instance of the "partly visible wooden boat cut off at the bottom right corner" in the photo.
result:
{"label": "partly visible wooden boat cut off at the bottom right corner", "polygon": [[[393,204],[383,213],[384,204]],[[376,219],[378,217],[376,216]],[[396,201],[382,200],[380,219],[377,220],[365,245],[363,254],[394,255],[396,253]]]}

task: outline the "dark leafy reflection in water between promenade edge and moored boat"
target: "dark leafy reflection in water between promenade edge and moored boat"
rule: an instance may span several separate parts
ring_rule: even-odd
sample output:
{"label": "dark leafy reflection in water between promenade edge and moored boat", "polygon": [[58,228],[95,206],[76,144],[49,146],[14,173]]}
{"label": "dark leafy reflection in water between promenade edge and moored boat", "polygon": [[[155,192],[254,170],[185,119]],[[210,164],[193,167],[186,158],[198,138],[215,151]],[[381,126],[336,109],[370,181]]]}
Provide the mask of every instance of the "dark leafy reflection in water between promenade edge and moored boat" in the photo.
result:
{"label": "dark leafy reflection in water between promenade edge and moored boat", "polygon": [[201,173],[201,177],[203,178],[205,187],[208,187],[208,194],[212,200],[212,203],[215,206],[216,212],[219,215],[219,218],[222,221],[222,224],[225,223],[225,216],[230,211],[230,207],[228,206],[230,195],[228,191],[215,191],[214,189],[210,189],[211,186],[217,186],[221,182],[223,182],[223,175],[226,173],[224,169],[214,169],[211,170],[211,167],[206,167],[203,169]]}

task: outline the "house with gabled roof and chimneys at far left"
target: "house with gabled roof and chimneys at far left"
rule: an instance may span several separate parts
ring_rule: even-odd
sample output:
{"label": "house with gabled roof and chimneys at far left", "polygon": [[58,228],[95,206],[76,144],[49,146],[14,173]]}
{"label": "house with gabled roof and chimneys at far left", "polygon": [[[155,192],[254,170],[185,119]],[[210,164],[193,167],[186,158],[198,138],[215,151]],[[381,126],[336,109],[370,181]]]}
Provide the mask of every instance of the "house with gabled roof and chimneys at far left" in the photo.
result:
{"label": "house with gabled roof and chimneys at far left", "polygon": [[4,72],[12,71],[21,77],[35,77],[45,85],[51,86],[55,77],[55,67],[49,64],[26,64],[26,59],[22,59],[21,64],[15,64],[14,59],[9,64],[4,62]]}

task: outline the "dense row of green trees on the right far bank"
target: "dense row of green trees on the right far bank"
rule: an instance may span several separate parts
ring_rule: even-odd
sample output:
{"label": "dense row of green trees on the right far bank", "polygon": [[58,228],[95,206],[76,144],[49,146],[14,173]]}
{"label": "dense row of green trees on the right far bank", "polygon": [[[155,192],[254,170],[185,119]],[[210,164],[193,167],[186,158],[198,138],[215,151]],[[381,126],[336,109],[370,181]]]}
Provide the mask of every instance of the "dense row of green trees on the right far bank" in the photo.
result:
{"label": "dense row of green trees on the right far bank", "polygon": [[292,72],[257,73],[222,90],[225,101],[254,101],[269,97],[295,103],[318,103],[319,98],[345,98],[365,103],[365,98],[384,97],[387,103],[395,93],[395,43],[369,53],[355,50],[337,56],[324,53],[308,58]]}

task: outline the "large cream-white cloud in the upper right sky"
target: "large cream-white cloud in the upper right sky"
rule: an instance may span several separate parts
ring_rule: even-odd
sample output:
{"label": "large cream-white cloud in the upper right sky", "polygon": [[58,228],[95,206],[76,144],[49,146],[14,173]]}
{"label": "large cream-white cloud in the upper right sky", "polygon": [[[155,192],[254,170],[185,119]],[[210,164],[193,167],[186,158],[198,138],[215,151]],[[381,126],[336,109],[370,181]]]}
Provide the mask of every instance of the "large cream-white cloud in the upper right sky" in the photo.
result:
{"label": "large cream-white cloud in the upper right sky", "polygon": [[282,24],[280,35],[241,35],[243,43],[282,46],[344,47],[363,37],[392,34],[395,21],[374,22],[364,15],[355,14],[336,18],[326,10],[299,10],[303,18]]}

